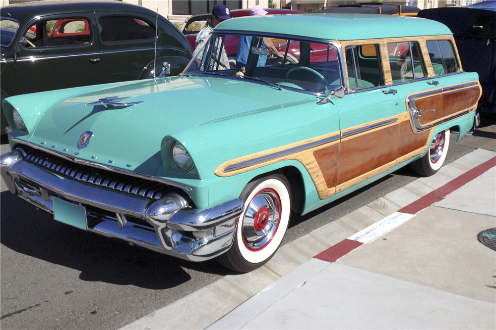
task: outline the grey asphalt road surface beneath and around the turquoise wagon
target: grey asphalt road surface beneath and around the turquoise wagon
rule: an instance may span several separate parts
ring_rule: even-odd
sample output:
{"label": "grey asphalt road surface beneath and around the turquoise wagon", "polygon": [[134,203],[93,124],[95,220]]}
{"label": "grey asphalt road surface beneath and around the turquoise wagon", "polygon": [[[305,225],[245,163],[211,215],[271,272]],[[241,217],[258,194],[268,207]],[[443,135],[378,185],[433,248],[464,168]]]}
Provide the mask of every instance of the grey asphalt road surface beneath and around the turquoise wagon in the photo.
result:
{"label": "grey asphalt road surface beneath and around the turquoise wagon", "polygon": [[[452,139],[446,162],[477,147],[496,151],[494,118],[459,142]],[[8,149],[2,139],[1,153]],[[416,178],[401,169],[308,215],[293,216],[283,244]],[[118,329],[232,274],[215,261],[186,262],[54,221],[13,196],[3,181],[0,219],[1,329]]]}

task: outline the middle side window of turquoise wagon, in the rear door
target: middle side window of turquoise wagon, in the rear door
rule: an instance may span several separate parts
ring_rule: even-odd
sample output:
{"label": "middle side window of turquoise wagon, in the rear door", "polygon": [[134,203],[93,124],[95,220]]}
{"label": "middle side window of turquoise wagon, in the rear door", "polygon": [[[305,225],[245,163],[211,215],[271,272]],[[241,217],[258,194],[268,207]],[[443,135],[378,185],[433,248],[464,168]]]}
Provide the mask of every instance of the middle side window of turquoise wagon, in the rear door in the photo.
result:
{"label": "middle side window of turquoise wagon, in the rear door", "polygon": [[389,66],[393,83],[427,76],[419,44],[416,42],[388,43]]}

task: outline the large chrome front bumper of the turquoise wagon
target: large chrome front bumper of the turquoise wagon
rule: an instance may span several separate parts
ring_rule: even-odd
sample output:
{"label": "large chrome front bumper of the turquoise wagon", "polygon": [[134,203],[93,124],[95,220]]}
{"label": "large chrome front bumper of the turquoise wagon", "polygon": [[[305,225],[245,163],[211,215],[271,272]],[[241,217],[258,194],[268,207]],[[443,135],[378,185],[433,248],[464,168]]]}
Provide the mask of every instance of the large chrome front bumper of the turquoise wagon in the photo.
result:
{"label": "large chrome front bumper of the turquoise wagon", "polygon": [[191,261],[214,258],[233,243],[244,207],[239,198],[197,210],[178,192],[158,200],[129,194],[62,176],[24,156],[22,148],[0,156],[10,192],[50,213],[53,197],[83,206],[88,231]]}

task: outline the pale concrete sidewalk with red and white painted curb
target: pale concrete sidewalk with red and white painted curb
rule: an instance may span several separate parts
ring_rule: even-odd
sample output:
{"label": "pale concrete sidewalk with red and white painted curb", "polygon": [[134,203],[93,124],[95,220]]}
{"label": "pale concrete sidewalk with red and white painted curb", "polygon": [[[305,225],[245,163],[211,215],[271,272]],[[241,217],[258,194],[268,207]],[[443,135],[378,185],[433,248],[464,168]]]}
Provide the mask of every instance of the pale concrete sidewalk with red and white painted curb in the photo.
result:
{"label": "pale concrete sidewalk with red and white painted curb", "polygon": [[495,156],[475,150],[123,329],[496,329],[496,252],[477,240],[496,227]]}

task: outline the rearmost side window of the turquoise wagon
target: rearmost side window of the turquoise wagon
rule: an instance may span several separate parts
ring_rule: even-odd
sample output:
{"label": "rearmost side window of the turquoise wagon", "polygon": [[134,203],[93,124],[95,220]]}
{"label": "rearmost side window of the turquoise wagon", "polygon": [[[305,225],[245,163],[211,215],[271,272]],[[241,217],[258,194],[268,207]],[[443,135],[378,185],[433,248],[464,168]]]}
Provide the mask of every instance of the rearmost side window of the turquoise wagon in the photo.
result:
{"label": "rearmost side window of the turquoise wagon", "polygon": [[458,71],[453,45],[448,40],[428,40],[426,45],[436,76]]}

